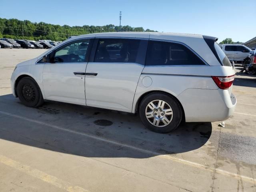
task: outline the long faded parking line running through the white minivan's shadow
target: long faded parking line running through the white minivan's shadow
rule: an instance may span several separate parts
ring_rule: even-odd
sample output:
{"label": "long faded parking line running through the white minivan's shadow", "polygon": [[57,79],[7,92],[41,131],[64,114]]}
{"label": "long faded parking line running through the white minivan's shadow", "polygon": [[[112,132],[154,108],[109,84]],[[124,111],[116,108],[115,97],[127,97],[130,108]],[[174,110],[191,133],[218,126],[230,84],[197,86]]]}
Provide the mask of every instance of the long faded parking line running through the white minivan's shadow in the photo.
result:
{"label": "long faded parking line running through the white minivan's shadow", "polygon": [[45,126],[49,126],[51,128],[56,128],[56,129],[59,129],[59,130],[70,132],[70,133],[73,133],[73,134],[79,134],[79,135],[82,135],[82,136],[86,136],[88,138],[93,138],[93,139],[100,140],[100,141],[103,141],[103,142],[108,142],[108,143],[111,143],[111,144],[127,147],[127,148],[130,148],[130,149],[133,149],[133,150],[136,150],[136,151],[140,151],[140,152],[143,152],[143,153],[146,153],[146,154],[153,154],[153,155],[158,156],[159,158],[165,158],[165,159],[168,159],[168,160],[172,160],[174,162],[178,162],[178,163],[181,163],[181,164],[186,164],[188,166],[200,168],[200,169],[207,170],[207,171],[210,171],[210,172],[214,172],[214,170],[215,170],[217,173],[222,174],[224,176],[229,176],[229,177],[232,177],[232,178],[235,178],[235,179],[242,178],[242,180],[250,182],[252,184],[256,183],[256,178],[243,176],[243,175],[240,175],[240,174],[228,172],[228,171],[221,170],[221,169],[218,169],[218,168],[214,169],[214,168],[211,168],[210,166],[205,166],[205,165],[202,165],[202,164],[198,164],[196,162],[184,160],[184,159],[177,158],[177,157],[174,157],[174,156],[171,156],[171,155],[164,155],[164,154],[161,154],[161,153],[158,153],[158,152],[138,148],[138,147],[135,147],[135,146],[132,146],[132,145],[129,145],[129,144],[124,144],[124,143],[116,142],[116,141],[113,141],[113,140],[108,140],[106,138],[101,138],[101,137],[94,136],[94,135],[91,135],[91,134],[78,132],[76,130],[70,130],[68,128],[62,128],[60,126],[51,125],[51,124],[48,124],[48,123],[45,123],[45,122],[41,122],[41,121],[38,121],[38,120],[26,118],[26,117],[23,117],[23,116],[14,115],[14,114],[10,114],[10,113],[7,113],[7,112],[2,112],[2,111],[0,111],[0,113],[6,114],[6,115],[9,115],[9,116],[13,116],[13,117],[16,117],[16,118],[20,118],[20,119],[23,119],[23,120],[27,120],[27,121],[30,121],[30,122],[42,124],[42,125],[45,125]]}

